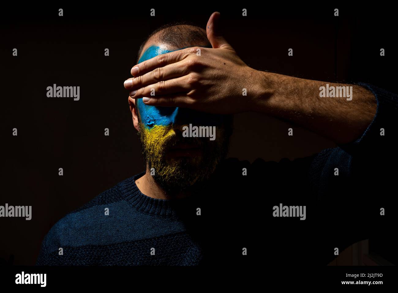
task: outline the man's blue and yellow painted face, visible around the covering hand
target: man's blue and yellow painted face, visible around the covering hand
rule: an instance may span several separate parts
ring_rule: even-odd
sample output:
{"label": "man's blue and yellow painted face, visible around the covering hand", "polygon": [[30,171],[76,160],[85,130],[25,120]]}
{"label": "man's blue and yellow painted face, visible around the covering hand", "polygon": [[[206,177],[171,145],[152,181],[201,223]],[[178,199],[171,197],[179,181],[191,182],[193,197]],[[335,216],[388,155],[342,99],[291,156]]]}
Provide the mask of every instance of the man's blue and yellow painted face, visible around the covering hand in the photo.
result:
{"label": "man's blue and yellow painted face, visible around the covering hand", "polygon": [[[184,49],[184,48],[181,48]],[[173,50],[176,51],[176,50]],[[172,52],[151,46],[138,63]],[[164,189],[184,189],[207,179],[226,155],[230,132],[227,115],[208,114],[189,108],[159,107],[136,100],[142,153],[154,179]],[[230,117],[229,117],[230,118]],[[182,126],[215,126],[215,140],[183,137]],[[229,129],[227,129],[229,130]]]}

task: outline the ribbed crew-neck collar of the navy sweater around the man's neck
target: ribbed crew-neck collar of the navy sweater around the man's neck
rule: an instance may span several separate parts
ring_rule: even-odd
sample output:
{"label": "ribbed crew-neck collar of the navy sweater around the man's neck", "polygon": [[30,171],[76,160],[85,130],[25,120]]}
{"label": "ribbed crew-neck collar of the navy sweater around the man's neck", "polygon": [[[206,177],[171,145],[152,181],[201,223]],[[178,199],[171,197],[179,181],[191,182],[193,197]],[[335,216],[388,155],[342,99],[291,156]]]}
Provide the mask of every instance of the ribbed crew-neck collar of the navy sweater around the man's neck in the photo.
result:
{"label": "ribbed crew-neck collar of the navy sweater around the man's neck", "polygon": [[144,195],[135,181],[142,177],[145,171],[121,181],[117,187],[121,197],[133,208],[155,216],[175,217],[178,208],[187,207],[198,200],[198,196],[190,196],[182,199],[154,199]]}

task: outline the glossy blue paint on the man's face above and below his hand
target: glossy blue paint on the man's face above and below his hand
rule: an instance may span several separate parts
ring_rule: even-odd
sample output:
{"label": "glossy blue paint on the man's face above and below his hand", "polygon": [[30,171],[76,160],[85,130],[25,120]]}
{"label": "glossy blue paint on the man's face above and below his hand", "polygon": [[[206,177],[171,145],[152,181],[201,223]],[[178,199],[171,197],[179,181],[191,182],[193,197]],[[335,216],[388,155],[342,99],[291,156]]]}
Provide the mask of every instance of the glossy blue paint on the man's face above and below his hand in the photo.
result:
{"label": "glossy blue paint on the man's face above and below his hand", "polygon": [[[211,46],[210,46],[211,47]],[[183,47],[177,50],[185,49]],[[177,50],[166,50],[159,46],[150,46],[142,54],[138,63],[151,59],[157,55],[165,54]],[[137,108],[140,119],[145,128],[150,130],[154,126],[168,126],[175,123],[190,124],[197,126],[217,126],[224,120],[223,115],[207,114],[189,108],[179,107],[159,107],[144,104],[142,99],[137,99]]]}

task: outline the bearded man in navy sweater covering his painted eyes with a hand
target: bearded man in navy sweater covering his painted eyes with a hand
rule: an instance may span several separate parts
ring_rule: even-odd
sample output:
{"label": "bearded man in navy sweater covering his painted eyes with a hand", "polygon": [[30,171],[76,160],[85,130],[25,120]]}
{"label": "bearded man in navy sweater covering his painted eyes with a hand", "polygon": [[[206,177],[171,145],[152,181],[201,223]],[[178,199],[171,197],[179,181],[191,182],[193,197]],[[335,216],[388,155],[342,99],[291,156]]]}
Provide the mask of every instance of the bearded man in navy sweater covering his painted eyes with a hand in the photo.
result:
{"label": "bearded man in navy sweater covering his painted eyes with a hand", "polygon": [[[37,264],[326,265],[336,248],[387,235],[380,208],[390,202],[378,191],[394,184],[380,164],[394,146],[396,95],[330,83],[350,87],[350,99],[320,97],[326,83],[251,69],[217,33],[218,17],[206,30],[163,26],[142,43],[125,88],[146,166],[59,220]],[[226,159],[242,111],[339,146],[279,163]],[[183,135],[187,126],[209,131]]]}

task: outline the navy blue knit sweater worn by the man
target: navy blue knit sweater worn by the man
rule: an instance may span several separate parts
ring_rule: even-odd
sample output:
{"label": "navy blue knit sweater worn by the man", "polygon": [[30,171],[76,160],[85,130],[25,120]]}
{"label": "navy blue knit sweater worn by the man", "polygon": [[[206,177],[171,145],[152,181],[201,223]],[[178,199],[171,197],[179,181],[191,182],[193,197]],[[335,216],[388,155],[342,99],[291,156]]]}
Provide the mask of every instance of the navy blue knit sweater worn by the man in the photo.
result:
{"label": "navy blue knit sweater worn by the man", "polygon": [[[142,172],[60,219],[36,264],[325,265],[336,247],[367,238],[387,243],[398,98],[359,85],[375,94],[377,114],[355,142],[279,163],[226,159],[200,195],[178,200],[142,194],[135,184]],[[280,204],[306,206],[306,219],[273,216]]]}

